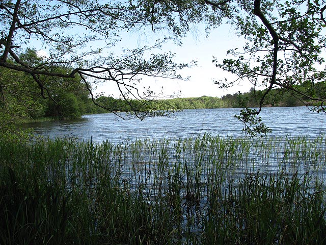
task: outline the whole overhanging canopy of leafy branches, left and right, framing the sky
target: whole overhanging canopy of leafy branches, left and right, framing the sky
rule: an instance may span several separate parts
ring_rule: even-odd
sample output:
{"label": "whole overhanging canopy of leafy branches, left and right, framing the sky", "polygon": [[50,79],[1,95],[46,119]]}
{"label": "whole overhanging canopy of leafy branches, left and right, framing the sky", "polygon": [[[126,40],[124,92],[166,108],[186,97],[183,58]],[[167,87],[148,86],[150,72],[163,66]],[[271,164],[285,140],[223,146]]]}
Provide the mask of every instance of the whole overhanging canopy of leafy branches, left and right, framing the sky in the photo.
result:
{"label": "whole overhanging canopy of leafy branches, left and right, framing the sky", "polygon": [[[249,80],[257,91],[259,108],[244,108],[237,117],[244,123],[247,133],[266,133],[269,129],[256,115],[270,103],[267,95],[274,88],[287,90],[303,103],[309,101],[306,105],[310,110],[326,112],[325,9],[326,2],[318,0],[110,3],[100,0],[3,0],[0,2],[0,67],[4,69],[1,76],[4,78],[7,70],[18,72],[18,77],[29,76],[39,94],[58,106],[60,96],[56,97],[53,92],[56,84],[77,78],[84,83],[95,104],[114,112],[110,105],[98,103],[91,87],[94,82],[112,82],[133,115],[141,119],[161,115],[160,111],[147,110],[143,105],[135,107],[140,103],[130,101],[143,103],[154,95],[150,88],[144,94],[140,92],[142,76],[176,78],[179,77],[177,70],[189,64],[176,63],[174,54],[153,49],[160,48],[167,39],[180,42],[180,37],[187,34],[192,24],[204,22],[209,33],[209,29],[227,22],[246,43],[242,48],[235,47],[227,52],[232,58],[213,58],[216,67],[238,77],[229,81],[216,75],[215,83],[226,88]],[[120,56],[113,53],[122,33],[139,30],[160,33],[161,39],[152,46],[123,50]],[[24,58],[27,48],[35,43],[49,54],[37,62]],[[214,51],[212,55],[217,56]],[[1,79],[0,97],[5,107],[13,86],[16,83]],[[28,86],[20,90],[30,91]],[[260,90],[263,93],[258,92]],[[74,104],[71,93],[62,96]],[[310,107],[311,101],[313,107]]]}

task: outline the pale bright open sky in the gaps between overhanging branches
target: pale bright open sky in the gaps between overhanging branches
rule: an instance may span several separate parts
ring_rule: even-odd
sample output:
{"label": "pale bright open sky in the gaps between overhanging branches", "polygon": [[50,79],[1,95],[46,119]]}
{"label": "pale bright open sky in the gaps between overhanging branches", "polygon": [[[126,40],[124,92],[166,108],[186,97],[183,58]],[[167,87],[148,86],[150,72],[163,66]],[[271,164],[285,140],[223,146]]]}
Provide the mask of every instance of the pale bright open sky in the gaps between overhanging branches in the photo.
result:
{"label": "pale bright open sky in the gaps between overhanging branches", "polygon": [[[125,34],[122,36],[120,45],[140,47],[148,45],[151,39],[157,38],[152,34]],[[229,72],[225,72],[215,67],[212,63],[213,56],[222,61],[223,58],[231,58],[226,56],[230,48],[241,48],[244,41],[237,37],[235,32],[230,29],[228,24],[224,24],[218,29],[211,30],[208,37],[204,28],[199,27],[197,32],[189,33],[185,38],[181,39],[182,46],[176,45],[172,41],[162,45],[162,51],[176,53],[175,61],[187,63],[192,60],[197,61],[197,66],[192,68],[184,68],[179,72],[182,77],[190,77],[187,81],[179,79],[157,79],[143,78],[141,87],[148,87],[156,92],[164,87],[164,95],[169,96],[177,93],[178,97],[200,97],[203,95],[221,97],[227,93],[248,92],[252,87],[249,82],[242,81],[239,86],[234,85],[229,89],[221,89],[214,81],[224,80],[224,78],[235,80],[236,77]],[[125,47],[125,46],[124,46]],[[118,47],[117,47],[118,48]],[[115,85],[106,83],[97,85],[96,92],[103,92],[104,95],[118,96]]]}

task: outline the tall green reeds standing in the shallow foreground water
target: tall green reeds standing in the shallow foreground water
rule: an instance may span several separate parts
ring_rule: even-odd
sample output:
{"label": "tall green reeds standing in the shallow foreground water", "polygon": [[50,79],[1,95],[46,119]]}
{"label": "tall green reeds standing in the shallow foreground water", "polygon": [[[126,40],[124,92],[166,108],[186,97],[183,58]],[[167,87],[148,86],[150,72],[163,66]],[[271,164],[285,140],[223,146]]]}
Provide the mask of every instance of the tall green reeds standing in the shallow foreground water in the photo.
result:
{"label": "tall green reeds standing in the shallow foreground water", "polygon": [[326,138],[0,139],[0,244],[325,244]]}

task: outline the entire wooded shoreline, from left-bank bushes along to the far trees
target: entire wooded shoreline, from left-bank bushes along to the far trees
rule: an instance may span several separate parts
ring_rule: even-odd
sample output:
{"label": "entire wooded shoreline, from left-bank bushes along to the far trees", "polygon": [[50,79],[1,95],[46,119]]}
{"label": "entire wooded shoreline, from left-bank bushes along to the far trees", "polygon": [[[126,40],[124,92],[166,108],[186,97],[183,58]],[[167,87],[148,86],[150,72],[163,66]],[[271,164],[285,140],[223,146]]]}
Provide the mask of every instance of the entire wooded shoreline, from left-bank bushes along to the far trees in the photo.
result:
{"label": "entire wooded shoreline, from left-bank bushes along to the far trees", "polygon": [[[35,65],[42,61],[35,50],[28,49],[20,55],[24,62],[33,62]],[[14,60],[12,61],[15,62]],[[69,74],[69,66],[51,66],[48,71]],[[15,70],[0,67],[0,129],[10,129],[12,124],[31,119],[43,118],[68,119],[80,117],[83,114],[105,113],[101,107],[94,105],[89,97],[89,91],[85,83],[78,76],[75,78],[61,79],[39,76],[41,85],[35,83],[32,76]],[[320,86],[326,86],[320,83]],[[308,85],[300,85],[296,89],[311,89]],[[316,88],[318,89],[318,87]],[[324,87],[320,91],[324,91]],[[115,99],[113,97],[100,96],[96,103],[111,111],[140,111],[150,110],[178,110],[200,108],[242,108],[258,107],[259,101],[265,90],[250,89],[247,93],[237,92],[219,97],[202,96],[193,98],[175,98],[167,100],[138,101]],[[309,91],[307,94],[310,94]],[[42,95],[42,96],[41,96]],[[43,98],[46,97],[47,100]],[[284,89],[274,89],[268,93],[264,100],[264,106],[300,106],[302,101],[309,98],[293,96]]]}

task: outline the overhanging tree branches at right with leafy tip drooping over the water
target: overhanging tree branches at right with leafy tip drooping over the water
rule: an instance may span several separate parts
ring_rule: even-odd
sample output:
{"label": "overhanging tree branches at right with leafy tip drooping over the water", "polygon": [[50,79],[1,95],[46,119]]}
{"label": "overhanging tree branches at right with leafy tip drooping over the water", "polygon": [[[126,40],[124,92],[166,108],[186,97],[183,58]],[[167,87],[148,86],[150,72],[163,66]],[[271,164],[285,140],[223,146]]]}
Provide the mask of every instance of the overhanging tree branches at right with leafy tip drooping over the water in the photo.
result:
{"label": "overhanging tree branches at right with leafy tip drooping over the water", "polygon": [[[269,132],[256,115],[274,88],[284,88],[304,104],[313,101],[312,107],[306,104],[312,111],[326,112],[325,1],[153,1],[153,5],[178,13],[183,26],[200,19],[206,21],[207,29],[215,28],[223,19],[246,40],[242,48],[227,52],[233,58],[213,59],[216,67],[237,75],[234,81],[216,79],[221,88],[243,80],[249,80],[254,90],[267,88],[260,96],[258,110],[244,108],[237,115],[245,132]],[[193,11],[189,13],[188,9]]]}

